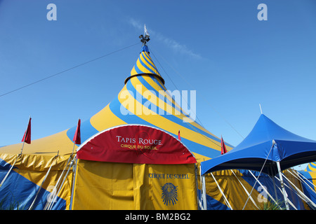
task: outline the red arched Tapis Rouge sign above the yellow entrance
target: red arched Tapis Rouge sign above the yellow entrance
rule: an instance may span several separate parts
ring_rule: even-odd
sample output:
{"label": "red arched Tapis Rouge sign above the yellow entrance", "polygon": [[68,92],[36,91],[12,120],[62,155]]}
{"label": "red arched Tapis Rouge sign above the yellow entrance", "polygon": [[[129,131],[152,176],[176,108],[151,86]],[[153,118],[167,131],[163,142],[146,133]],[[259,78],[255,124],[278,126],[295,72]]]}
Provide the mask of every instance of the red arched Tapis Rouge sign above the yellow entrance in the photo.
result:
{"label": "red arched Tapis Rouge sign above the yellow entrance", "polygon": [[197,162],[178,139],[145,125],[121,125],[99,132],[79,146],[77,158],[140,164]]}

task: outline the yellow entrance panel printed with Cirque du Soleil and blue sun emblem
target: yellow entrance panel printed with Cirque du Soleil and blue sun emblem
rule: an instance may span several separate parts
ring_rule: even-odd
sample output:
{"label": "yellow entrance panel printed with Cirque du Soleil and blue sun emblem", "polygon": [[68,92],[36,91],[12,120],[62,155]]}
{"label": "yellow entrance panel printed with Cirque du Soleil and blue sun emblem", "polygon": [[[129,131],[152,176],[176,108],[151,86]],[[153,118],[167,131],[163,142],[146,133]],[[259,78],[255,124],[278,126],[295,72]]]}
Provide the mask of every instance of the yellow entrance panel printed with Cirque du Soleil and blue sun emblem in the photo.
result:
{"label": "yellow entrance panel printed with Cirque du Soleil and blue sun emblem", "polygon": [[134,165],[133,168],[136,209],[197,209],[195,164]]}

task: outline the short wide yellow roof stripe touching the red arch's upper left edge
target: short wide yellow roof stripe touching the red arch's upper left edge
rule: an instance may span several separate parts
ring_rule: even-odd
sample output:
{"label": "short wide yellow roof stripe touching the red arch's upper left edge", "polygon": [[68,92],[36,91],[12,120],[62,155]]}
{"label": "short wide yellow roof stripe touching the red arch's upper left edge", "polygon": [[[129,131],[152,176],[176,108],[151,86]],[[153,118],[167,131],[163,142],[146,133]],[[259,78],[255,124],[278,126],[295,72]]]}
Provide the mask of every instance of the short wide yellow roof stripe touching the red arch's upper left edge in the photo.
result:
{"label": "short wide yellow roof stripe touching the red arch's upper left edge", "polygon": [[109,127],[126,124],[123,120],[117,118],[117,116],[112,113],[109,104],[107,104],[107,106],[105,106],[105,108],[100,112],[96,113],[96,115],[91,118],[90,123],[99,132],[106,130]]}

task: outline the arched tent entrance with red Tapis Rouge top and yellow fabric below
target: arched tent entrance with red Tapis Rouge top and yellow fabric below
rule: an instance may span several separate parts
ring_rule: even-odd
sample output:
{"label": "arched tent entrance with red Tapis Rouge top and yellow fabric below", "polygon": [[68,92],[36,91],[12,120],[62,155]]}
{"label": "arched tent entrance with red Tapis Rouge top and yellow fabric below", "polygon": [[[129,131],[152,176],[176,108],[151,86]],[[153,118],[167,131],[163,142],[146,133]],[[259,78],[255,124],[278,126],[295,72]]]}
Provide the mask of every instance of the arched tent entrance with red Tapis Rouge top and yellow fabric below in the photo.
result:
{"label": "arched tent entrance with red Tapis Rouge top and yellow fabric below", "polygon": [[120,125],[77,149],[72,209],[197,209],[195,157],[146,125]]}

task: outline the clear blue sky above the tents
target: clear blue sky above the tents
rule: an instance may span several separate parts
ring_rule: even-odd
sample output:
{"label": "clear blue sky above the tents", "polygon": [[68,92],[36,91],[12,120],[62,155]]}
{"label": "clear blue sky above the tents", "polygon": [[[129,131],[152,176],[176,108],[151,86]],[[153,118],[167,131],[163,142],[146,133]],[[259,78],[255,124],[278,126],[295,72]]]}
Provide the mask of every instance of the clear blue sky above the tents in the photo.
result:
{"label": "clear blue sky above the tents", "polygon": [[[48,3],[56,21],[46,18]],[[103,109],[136,62],[144,24],[167,89],[197,91],[207,130],[237,146],[261,104],[275,123],[316,139],[316,1],[4,0],[0,95],[138,45],[0,97],[0,146],[21,141],[29,116],[39,139]]]}

